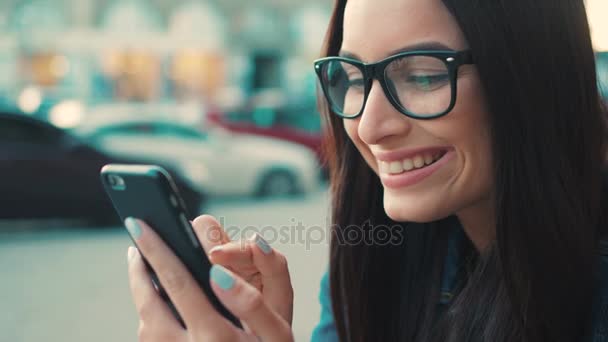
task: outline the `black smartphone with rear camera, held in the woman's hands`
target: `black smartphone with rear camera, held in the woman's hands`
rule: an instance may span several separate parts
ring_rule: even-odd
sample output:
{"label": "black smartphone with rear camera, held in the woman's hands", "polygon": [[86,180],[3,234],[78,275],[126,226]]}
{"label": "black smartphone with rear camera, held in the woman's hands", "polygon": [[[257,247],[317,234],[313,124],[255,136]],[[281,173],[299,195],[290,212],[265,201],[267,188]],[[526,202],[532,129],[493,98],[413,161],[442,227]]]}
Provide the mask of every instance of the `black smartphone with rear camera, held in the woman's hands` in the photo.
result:
{"label": "black smartphone with rear camera, held in the woman's hands", "polygon": [[[101,169],[101,182],[121,220],[134,217],[145,221],[190,271],[217,311],[237,327],[239,320],[217,299],[209,283],[211,263],[188,220],[184,201],[169,173],[157,165],[108,164]],[[135,241],[133,241],[135,243]],[[160,296],[185,328],[158,277],[145,260]]]}

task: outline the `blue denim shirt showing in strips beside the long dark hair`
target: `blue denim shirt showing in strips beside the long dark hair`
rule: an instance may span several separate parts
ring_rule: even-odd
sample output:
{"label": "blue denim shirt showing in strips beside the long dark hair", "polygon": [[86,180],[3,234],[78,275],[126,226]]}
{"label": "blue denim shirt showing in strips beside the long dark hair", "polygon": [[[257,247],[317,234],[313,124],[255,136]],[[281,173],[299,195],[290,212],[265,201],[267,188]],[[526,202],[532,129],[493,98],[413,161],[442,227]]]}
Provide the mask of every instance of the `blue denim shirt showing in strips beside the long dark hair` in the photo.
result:
{"label": "blue denim shirt showing in strips beside the long dark hair", "polygon": [[[448,250],[446,253],[445,267],[441,280],[441,297],[439,305],[445,306],[453,297],[452,287],[456,282],[458,261],[460,259],[458,246],[460,239],[464,237],[462,228],[450,232]],[[590,322],[587,336],[581,341],[608,342],[608,243],[605,244],[604,252],[601,253],[599,282],[599,293],[594,302],[592,320]],[[337,342],[338,334],[334,325],[329,291],[329,274],[326,272],[321,279],[321,291],[319,293],[321,303],[321,318],[312,333],[312,342]]]}

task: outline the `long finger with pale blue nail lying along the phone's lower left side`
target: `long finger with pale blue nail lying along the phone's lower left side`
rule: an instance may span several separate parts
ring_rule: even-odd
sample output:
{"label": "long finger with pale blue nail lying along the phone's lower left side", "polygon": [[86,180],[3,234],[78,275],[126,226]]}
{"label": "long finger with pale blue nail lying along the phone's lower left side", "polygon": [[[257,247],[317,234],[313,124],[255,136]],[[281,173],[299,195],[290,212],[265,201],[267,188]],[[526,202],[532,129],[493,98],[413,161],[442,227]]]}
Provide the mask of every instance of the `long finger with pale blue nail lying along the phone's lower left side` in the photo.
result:
{"label": "long finger with pale blue nail lying along the phone's lower left side", "polygon": [[133,218],[127,218],[125,226],[187,327],[197,326],[209,331],[234,328],[213,308],[190,272],[154,230]]}

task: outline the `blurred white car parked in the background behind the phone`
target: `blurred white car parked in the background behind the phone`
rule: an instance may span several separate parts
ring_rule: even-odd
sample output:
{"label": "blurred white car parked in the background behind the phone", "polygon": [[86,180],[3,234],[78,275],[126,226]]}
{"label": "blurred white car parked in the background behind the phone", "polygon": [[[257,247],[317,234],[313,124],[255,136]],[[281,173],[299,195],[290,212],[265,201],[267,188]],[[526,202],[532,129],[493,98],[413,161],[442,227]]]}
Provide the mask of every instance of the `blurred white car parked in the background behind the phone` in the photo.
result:
{"label": "blurred white car parked in the background behind the phone", "polygon": [[164,118],[121,115],[85,122],[76,132],[100,150],[171,165],[208,195],[276,196],[318,186],[314,153],[282,140],[220,129],[201,132]]}

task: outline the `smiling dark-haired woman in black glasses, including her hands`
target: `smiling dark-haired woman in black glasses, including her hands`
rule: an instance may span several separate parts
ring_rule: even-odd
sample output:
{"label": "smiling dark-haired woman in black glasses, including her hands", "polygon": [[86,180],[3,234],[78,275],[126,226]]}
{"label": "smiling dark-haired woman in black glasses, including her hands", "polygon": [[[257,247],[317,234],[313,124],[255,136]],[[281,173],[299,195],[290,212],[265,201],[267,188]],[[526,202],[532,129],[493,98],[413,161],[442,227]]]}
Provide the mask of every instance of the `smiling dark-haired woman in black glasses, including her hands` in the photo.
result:
{"label": "smiling dark-haired woman in black glasses, including her hands", "polygon": [[[338,0],[325,54],[336,228],[313,339],[599,341],[607,134],[583,1]],[[285,258],[261,237],[240,251],[194,222],[241,331],[137,222],[188,326],[131,249],[141,340],[292,339]]]}

